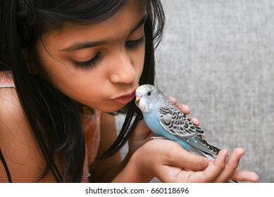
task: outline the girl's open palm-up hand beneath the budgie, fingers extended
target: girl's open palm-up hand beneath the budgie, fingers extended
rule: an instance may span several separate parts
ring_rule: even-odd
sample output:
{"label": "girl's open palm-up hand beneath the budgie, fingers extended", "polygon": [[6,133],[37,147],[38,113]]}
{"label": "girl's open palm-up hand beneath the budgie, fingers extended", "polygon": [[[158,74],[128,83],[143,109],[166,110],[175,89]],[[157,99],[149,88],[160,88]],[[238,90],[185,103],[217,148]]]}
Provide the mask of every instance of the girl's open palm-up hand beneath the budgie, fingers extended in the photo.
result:
{"label": "girl's open palm-up hand beneath the budgie, fingers extended", "polygon": [[257,182],[256,173],[237,170],[242,155],[244,149],[236,148],[226,161],[228,150],[224,149],[213,161],[188,153],[174,141],[157,139],[140,147],[128,165],[135,166],[140,182],[153,177],[161,182],[228,182],[230,179]]}

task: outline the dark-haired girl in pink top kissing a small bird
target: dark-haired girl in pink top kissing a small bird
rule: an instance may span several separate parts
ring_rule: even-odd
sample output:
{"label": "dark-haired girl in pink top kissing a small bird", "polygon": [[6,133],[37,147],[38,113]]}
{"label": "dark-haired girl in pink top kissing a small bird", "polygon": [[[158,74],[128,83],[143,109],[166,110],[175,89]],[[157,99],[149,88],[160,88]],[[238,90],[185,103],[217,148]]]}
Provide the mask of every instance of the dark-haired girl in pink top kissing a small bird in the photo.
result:
{"label": "dark-haired girl in pink top kissing a small bird", "polygon": [[[258,180],[237,170],[242,148],[213,163],[149,141],[133,98],[139,84],[154,83],[159,0],[1,0],[0,8],[0,182]],[[114,113],[126,113],[118,136]]]}

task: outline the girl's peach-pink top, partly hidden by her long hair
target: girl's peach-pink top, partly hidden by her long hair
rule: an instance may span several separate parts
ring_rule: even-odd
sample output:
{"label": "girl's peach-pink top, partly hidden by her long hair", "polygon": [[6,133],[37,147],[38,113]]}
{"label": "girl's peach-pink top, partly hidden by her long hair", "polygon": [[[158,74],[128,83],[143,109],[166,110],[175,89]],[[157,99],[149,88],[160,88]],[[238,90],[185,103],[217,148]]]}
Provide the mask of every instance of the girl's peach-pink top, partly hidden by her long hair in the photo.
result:
{"label": "girl's peach-pink top, partly hidden by her long hair", "polygon": [[[0,88],[4,87],[15,87],[11,71],[0,71]],[[89,170],[94,166],[94,161],[98,152],[100,141],[100,115],[100,111],[96,110],[96,113],[92,113],[92,110],[89,110],[87,107],[83,107],[83,114],[80,115],[86,145],[82,182],[89,182],[89,176],[91,175],[89,174]]]}

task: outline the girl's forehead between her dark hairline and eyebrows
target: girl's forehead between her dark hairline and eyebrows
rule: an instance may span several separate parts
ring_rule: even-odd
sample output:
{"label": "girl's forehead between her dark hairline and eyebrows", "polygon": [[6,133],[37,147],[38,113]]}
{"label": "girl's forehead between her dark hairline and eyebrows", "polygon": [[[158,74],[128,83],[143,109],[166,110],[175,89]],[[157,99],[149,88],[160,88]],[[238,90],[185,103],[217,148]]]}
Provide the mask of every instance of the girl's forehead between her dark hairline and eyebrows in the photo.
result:
{"label": "girl's forehead between her dark hairline and eyebrows", "polygon": [[66,48],[65,46],[69,45],[67,42],[70,41],[125,39],[145,23],[146,18],[146,4],[132,1],[111,18],[100,23],[64,23],[60,29],[47,32],[43,39],[49,44],[61,44],[59,49]]}

